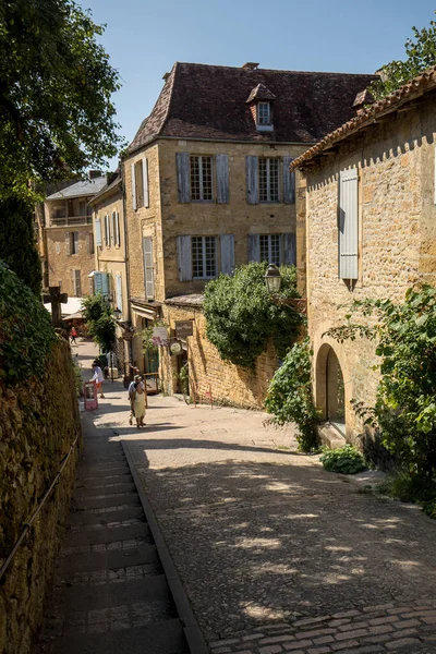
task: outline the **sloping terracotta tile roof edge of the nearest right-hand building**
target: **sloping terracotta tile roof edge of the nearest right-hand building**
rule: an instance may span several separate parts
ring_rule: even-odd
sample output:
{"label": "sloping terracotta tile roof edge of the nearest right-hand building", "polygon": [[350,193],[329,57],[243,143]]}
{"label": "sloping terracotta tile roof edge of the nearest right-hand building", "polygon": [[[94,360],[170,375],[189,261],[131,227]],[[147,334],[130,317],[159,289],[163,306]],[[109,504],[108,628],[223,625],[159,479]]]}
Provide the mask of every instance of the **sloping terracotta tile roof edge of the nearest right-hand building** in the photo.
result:
{"label": "sloping terracotta tile roof edge of the nearest right-hand building", "polygon": [[291,170],[307,166],[322,153],[352,134],[360,132],[368,124],[376,123],[383,116],[397,111],[403,105],[412,102],[422,97],[427,92],[434,92],[436,88],[436,65],[417,75],[392,94],[374,102],[371,107],[364,109],[352,120],[349,120],[340,128],[327,134],[319,143],[308,148],[300,157],[294,159],[290,166]]}

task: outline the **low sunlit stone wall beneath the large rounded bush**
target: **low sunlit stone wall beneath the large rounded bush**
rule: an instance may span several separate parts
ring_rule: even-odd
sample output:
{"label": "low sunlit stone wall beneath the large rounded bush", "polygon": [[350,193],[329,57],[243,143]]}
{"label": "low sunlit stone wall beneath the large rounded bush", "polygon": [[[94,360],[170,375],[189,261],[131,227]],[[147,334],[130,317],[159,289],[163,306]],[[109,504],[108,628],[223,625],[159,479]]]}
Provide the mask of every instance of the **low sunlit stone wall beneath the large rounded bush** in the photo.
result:
{"label": "low sunlit stone wall beneath the large rounded bush", "polygon": [[[269,348],[256,361],[255,371],[246,371],[222,361],[218,350],[207,340],[206,319],[201,307],[164,305],[164,320],[174,329],[175,320],[193,320],[194,335],[187,337],[187,359],[191,396],[195,392],[199,402],[214,402],[261,409],[269,382],[277,368],[277,356]],[[178,387],[178,361],[161,348],[160,375],[164,392],[172,395]]]}

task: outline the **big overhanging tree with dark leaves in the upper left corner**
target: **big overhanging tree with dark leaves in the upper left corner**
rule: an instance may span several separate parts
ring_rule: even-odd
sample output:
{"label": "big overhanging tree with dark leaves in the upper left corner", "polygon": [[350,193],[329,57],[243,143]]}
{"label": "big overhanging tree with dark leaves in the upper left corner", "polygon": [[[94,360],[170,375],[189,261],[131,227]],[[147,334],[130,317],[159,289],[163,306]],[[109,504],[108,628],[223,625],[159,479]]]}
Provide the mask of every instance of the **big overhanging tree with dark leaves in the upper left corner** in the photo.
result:
{"label": "big overhanging tree with dark leaves in the upper left corner", "polygon": [[120,85],[102,32],[74,0],[0,3],[0,198],[116,154]]}

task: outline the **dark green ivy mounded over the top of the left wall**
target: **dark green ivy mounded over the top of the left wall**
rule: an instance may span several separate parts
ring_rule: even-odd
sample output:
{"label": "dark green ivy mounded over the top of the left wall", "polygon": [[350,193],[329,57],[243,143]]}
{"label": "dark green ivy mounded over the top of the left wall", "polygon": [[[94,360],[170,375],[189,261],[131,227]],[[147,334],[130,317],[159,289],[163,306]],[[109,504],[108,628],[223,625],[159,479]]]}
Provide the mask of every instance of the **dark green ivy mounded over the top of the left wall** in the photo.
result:
{"label": "dark green ivy mounded over the top of the left wall", "polygon": [[55,340],[48,311],[0,261],[0,384],[41,377]]}

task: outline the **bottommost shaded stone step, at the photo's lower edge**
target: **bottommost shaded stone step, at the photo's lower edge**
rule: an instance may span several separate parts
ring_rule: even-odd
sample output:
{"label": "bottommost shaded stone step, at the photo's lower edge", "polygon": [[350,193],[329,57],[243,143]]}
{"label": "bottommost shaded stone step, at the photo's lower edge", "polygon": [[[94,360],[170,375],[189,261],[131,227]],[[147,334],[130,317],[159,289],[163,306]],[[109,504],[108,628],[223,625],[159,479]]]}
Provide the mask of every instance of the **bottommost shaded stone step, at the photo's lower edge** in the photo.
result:
{"label": "bottommost shaded stone step, at the photo's lower edge", "polygon": [[47,654],[187,654],[179,619],[155,622],[120,631],[106,631],[105,625],[83,634],[55,638]]}

